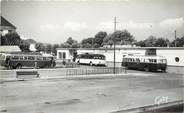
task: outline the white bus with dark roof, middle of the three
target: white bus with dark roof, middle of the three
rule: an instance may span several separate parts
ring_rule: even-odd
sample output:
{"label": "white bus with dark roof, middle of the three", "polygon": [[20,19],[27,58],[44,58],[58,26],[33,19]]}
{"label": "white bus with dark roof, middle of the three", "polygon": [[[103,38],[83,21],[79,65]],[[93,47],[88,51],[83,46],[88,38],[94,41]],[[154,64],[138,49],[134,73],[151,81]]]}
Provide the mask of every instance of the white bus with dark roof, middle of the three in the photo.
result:
{"label": "white bus with dark roof, middle of the three", "polygon": [[76,62],[78,64],[89,64],[92,65],[106,65],[105,56],[102,54],[79,54],[77,55]]}

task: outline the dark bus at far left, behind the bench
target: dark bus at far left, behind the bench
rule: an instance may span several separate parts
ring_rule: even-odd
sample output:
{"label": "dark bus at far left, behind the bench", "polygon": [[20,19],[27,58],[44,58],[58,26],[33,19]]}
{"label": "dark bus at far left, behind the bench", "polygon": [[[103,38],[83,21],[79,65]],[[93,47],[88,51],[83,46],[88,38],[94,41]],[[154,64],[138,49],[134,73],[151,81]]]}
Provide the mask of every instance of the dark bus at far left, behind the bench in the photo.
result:
{"label": "dark bus at far left, behind the bench", "polygon": [[22,67],[45,68],[55,67],[55,58],[43,56],[40,53],[0,53],[0,65],[8,69],[19,69]]}

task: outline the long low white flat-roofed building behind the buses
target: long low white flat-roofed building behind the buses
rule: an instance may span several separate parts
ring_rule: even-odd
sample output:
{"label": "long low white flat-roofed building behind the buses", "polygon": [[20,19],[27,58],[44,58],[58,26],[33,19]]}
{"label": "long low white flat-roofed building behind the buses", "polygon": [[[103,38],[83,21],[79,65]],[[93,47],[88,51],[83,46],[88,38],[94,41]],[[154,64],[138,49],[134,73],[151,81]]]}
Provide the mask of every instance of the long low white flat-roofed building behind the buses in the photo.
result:
{"label": "long low white flat-roofed building behind the buses", "polygon": [[[126,47],[116,48],[116,66],[121,66],[125,55],[159,55],[167,59],[169,66],[184,66],[184,47]],[[72,61],[76,54],[96,53],[106,56],[107,65],[111,66],[114,60],[113,48],[57,48],[57,60]]]}

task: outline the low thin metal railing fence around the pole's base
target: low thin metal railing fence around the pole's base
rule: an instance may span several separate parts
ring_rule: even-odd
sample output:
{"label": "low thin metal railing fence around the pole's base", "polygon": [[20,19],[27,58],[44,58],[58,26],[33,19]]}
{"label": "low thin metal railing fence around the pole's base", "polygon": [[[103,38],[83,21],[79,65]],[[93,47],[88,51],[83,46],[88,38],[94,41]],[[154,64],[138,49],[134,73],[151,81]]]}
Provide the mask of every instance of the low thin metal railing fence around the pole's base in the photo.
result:
{"label": "low thin metal railing fence around the pole's base", "polygon": [[[126,73],[126,69],[123,67],[115,68],[115,73]],[[92,68],[92,69],[68,69],[66,71],[66,75],[90,75],[90,74],[113,74],[114,68],[113,67],[101,67],[101,68]]]}

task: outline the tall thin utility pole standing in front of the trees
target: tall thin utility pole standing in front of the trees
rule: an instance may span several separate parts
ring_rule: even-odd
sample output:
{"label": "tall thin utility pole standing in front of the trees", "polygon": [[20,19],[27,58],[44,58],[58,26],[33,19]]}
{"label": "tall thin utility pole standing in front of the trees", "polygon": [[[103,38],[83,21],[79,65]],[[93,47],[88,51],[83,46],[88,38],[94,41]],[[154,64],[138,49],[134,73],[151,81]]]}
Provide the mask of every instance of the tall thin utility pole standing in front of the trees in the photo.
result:
{"label": "tall thin utility pole standing in front of the trees", "polygon": [[[116,32],[116,17],[114,17],[114,33]],[[116,40],[114,37],[114,70],[113,73],[116,74]]]}

